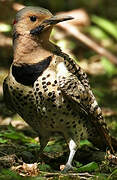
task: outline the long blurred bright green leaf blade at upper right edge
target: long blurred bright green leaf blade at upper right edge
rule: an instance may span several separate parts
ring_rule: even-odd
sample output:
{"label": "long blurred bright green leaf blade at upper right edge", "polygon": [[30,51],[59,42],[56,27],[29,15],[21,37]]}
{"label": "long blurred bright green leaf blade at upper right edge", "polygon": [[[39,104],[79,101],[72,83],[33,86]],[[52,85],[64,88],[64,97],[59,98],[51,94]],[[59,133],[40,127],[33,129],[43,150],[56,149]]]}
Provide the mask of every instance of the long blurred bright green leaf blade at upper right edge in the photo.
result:
{"label": "long blurred bright green leaf blade at upper right edge", "polygon": [[91,20],[93,23],[95,23],[98,26],[100,26],[101,28],[103,28],[106,32],[111,34],[113,36],[113,38],[115,38],[117,40],[117,27],[114,23],[112,23],[111,21],[109,21],[105,18],[98,17],[95,15],[93,15],[91,17]]}

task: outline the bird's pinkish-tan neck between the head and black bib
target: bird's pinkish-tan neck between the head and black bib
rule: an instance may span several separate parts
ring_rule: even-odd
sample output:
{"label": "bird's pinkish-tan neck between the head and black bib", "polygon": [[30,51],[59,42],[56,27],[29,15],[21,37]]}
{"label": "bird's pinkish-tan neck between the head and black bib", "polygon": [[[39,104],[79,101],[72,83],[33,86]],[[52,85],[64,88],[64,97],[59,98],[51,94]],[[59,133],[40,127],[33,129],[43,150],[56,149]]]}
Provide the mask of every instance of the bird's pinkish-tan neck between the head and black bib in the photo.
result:
{"label": "bird's pinkish-tan neck between the head and black bib", "polygon": [[14,64],[34,64],[52,55],[55,46],[46,33],[40,36],[19,35],[14,41]]}

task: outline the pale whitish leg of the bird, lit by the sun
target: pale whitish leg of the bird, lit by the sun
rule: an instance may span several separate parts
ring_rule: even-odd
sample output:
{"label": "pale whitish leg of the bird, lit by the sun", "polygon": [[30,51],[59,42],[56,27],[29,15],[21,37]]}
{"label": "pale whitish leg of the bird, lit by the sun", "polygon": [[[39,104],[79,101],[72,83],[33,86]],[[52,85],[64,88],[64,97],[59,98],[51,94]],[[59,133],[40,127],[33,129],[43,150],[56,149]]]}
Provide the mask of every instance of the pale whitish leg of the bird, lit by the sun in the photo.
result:
{"label": "pale whitish leg of the bird, lit by the sun", "polygon": [[71,139],[69,141],[70,154],[69,154],[68,161],[65,165],[65,168],[62,171],[63,173],[66,173],[68,170],[73,169],[72,161],[73,161],[74,155],[77,151],[77,148],[78,148],[77,144],[75,143],[75,141],[73,139]]}

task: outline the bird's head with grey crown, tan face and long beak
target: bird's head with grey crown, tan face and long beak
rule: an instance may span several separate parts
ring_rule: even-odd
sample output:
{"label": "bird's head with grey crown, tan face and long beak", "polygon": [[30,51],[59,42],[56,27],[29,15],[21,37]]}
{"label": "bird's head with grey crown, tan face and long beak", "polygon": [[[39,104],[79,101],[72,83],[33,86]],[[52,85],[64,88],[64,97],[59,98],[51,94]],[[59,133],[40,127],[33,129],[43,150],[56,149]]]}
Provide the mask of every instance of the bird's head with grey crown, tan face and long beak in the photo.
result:
{"label": "bird's head with grey crown, tan face and long beak", "polygon": [[25,7],[18,11],[14,21],[14,32],[20,35],[38,36],[45,30],[62,21],[73,19],[70,16],[53,16],[47,9],[41,7]]}

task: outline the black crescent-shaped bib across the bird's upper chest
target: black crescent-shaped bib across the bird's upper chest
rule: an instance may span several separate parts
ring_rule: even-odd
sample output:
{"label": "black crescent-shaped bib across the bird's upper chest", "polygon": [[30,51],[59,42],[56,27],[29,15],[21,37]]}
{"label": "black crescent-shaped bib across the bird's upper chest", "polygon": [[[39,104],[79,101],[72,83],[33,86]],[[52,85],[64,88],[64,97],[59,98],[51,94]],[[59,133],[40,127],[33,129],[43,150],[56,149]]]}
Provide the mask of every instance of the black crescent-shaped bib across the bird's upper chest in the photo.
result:
{"label": "black crescent-shaped bib across the bird's upper chest", "polygon": [[16,81],[30,86],[33,85],[37,78],[43,73],[43,71],[49,66],[52,60],[52,56],[47,57],[36,64],[24,64],[21,66],[12,66],[12,74],[15,77]]}

